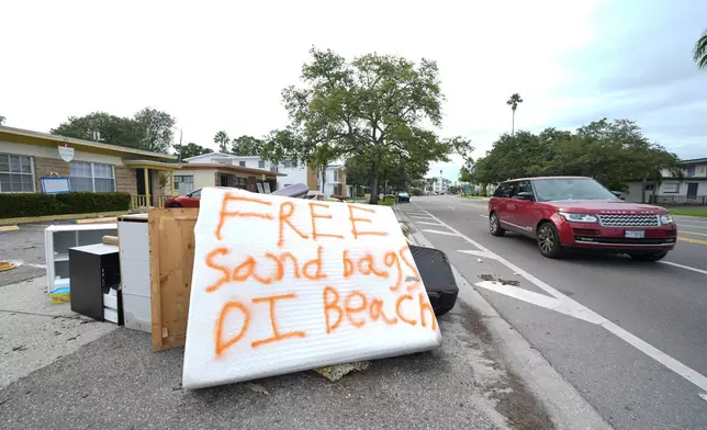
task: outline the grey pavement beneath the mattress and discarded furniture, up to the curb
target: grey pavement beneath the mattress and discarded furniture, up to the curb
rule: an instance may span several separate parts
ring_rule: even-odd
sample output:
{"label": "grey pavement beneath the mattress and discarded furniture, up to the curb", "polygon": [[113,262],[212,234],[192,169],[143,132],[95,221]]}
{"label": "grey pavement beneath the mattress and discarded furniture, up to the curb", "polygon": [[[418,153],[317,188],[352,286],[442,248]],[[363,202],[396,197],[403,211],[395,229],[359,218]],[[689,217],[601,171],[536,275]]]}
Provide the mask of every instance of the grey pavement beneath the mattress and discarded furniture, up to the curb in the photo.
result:
{"label": "grey pavement beneath the mattress and discarded furniture, up to the curb", "polygon": [[43,276],[0,286],[5,428],[552,428],[461,301],[439,318],[434,351],[378,360],[334,383],[300,372],[189,392],[183,349],[154,353],[147,333],[87,322],[45,290]]}

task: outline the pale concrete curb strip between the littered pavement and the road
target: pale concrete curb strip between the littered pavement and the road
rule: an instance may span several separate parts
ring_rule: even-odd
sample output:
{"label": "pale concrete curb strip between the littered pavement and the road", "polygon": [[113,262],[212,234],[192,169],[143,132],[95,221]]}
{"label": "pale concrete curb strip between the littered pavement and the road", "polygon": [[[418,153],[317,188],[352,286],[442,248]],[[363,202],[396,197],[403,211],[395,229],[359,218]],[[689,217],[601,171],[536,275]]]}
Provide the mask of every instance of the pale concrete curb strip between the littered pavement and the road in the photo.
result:
{"label": "pale concrete curb strip between the littered pavement and the road", "polygon": [[[395,207],[399,219],[414,225]],[[431,242],[416,228],[411,235],[418,246],[434,248]],[[459,286],[459,299],[476,312],[491,332],[493,346],[508,366],[545,406],[557,429],[613,429],[582,394],[558,373],[542,354],[535,349],[468,282],[451,264]]]}

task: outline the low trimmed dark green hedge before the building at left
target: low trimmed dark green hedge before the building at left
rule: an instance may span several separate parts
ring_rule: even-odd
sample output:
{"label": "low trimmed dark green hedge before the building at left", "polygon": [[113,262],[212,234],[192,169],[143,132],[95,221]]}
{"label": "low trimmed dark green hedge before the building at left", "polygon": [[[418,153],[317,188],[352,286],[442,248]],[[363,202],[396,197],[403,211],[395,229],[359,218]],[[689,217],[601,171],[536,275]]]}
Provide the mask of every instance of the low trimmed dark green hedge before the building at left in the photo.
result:
{"label": "low trimmed dark green hedge before the building at left", "polygon": [[0,218],[127,211],[130,203],[127,193],[0,194]]}

